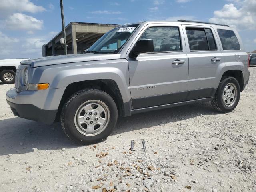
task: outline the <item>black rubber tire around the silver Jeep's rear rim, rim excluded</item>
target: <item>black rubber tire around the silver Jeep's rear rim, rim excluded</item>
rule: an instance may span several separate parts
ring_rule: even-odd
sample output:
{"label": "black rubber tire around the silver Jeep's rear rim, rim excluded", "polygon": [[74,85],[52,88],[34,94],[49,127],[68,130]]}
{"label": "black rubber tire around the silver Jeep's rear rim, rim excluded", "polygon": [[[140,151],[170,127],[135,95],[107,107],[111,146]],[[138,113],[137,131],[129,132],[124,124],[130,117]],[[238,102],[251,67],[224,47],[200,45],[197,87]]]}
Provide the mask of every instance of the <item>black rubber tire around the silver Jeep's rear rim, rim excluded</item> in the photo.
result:
{"label": "black rubber tire around the silver Jeep's rear rim, rim excluded", "polygon": [[[234,101],[232,106],[226,106],[222,99],[222,94],[223,94],[224,88],[230,83],[234,84],[234,86],[237,89],[236,100]],[[239,86],[239,83],[236,80],[236,78],[230,77],[230,76],[225,76],[220,81],[220,84],[218,86],[218,89],[216,90],[216,93],[214,95],[214,98],[213,98],[213,101],[211,102],[211,104],[212,104],[213,108],[218,110],[219,112],[223,112],[223,113],[231,112],[232,110],[234,110],[234,108],[236,108],[236,106],[239,102],[240,92],[241,92],[240,86]]]}

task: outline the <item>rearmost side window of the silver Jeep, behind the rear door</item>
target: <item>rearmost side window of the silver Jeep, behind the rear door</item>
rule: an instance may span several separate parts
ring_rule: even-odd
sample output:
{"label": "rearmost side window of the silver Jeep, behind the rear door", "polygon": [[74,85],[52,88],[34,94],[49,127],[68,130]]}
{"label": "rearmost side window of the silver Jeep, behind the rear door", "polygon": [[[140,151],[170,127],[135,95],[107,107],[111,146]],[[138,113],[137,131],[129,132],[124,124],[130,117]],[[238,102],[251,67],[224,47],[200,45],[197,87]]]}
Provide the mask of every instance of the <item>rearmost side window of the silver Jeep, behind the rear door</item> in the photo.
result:
{"label": "rearmost side window of the silver Jeep, behind the rear door", "polygon": [[217,29],[223,50],[240,50],[238,39],[231,30]]}

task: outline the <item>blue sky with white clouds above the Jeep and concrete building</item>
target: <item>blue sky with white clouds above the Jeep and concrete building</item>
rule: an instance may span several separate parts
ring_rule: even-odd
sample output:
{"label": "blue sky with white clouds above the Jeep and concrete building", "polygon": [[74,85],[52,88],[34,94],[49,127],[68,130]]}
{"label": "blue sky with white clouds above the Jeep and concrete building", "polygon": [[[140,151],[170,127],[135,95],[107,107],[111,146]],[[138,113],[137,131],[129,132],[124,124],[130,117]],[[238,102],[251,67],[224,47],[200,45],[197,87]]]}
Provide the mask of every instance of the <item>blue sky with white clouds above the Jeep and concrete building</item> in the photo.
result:
{"label": "blue sky with white clouds above the Jeep and concrete building", "polygon": [[[256,0],[63,0],[65,24],[197,20],[236,28],[256,50]],[[59,0],[0,0],[0,59],[42,57],[62,30]]]}

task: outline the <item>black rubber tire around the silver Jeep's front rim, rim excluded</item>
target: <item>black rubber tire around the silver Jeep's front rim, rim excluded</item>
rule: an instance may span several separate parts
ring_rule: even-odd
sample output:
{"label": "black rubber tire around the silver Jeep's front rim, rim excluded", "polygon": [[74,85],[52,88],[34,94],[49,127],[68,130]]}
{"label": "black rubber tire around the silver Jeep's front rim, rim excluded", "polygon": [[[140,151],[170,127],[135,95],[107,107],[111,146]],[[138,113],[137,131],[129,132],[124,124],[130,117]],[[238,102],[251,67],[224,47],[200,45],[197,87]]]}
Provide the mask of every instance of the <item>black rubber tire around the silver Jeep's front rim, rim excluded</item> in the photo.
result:
{"label": "black rubber tire around the silver Jeep's front rim, rim excluded", "polygon": [[[89,100],[100,100],[104,102],[110,112],[110,119],[106,128],[95,136],[81,134],[76,128],[74,120],[78,108]],[[97,89],[84,89],[74,93],[64,104],[60,115],[62,129],[66,135],[77,144],[94,144],[106,139],[116,126],[117,118],[118,110],[113,98],[106,92]]]}

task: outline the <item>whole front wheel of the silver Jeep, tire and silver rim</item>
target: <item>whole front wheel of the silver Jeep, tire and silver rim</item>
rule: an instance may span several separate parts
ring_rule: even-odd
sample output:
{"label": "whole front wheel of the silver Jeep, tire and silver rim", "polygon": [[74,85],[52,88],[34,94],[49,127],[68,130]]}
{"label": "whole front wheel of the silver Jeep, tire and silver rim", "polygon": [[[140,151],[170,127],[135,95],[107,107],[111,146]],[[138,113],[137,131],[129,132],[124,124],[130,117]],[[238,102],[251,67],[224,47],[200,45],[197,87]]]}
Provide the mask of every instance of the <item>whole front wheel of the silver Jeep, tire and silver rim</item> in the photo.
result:
{"label": "whole front wheel of the silver Jeep, tire and silver rim", "polygon": [[116,125],[118,110],[113,98],[97,89],[80,90],[64,104],[61,125],[78,144],[93,144],[107,138]]}

